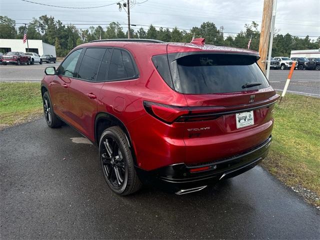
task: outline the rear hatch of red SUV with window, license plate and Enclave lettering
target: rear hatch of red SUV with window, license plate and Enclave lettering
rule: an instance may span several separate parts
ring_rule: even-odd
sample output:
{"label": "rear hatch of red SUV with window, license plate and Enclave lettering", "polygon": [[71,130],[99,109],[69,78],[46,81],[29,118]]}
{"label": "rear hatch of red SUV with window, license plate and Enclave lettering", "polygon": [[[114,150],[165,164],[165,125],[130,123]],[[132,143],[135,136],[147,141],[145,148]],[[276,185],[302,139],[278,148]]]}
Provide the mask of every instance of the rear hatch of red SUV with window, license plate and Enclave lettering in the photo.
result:
{"label": "rear hatch of red SUV with window, license plate and Enclave lettering", "polygon": [[176,119],[185,124],[186,164],[230,157],[270,136],[278,95],[256,54],[194,51],[168,53],[167,59],[169,84],[184,94],[189,109]]}

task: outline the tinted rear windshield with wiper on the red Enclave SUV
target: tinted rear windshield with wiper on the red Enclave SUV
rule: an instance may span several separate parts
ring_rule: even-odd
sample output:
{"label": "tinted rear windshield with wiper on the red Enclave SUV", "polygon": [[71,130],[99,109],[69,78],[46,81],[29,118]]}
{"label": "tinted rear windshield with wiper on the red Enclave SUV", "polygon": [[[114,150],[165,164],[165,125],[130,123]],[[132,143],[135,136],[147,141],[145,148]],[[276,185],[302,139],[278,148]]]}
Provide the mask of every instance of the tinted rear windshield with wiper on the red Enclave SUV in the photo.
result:
{"label": "tinted rear windshield with wiper on the red Enclave SUV", "polygon": [[[225,93],[256,90],[269,86],[255,62],[255,56],[202,53],[182,56],[172,61],[174,57],[169,55],[168,65],[172,84],[169,82],[168,84],[181,93]],[[156,64],[156,61],[153,62],[156,67],[161,66]],[[163,78],[167,77],[163,70],[161,71],[158,67],[157,69]],[[250,83],[257,84],[243,87]]]}

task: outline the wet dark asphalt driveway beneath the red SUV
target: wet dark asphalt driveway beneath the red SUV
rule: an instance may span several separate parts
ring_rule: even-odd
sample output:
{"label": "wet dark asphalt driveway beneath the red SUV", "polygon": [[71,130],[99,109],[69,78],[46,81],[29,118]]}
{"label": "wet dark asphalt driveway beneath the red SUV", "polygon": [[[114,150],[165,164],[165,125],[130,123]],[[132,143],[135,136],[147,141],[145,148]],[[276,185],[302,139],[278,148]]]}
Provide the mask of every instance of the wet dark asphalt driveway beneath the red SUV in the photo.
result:
{"label": "wet dark asphalt driveway beneath the red SUV", "polygon": [[97,148],[69,126],[1,130],[0,154],[1,239],[320,238],[320,211],[259,166],[186,195],[121,197]]}

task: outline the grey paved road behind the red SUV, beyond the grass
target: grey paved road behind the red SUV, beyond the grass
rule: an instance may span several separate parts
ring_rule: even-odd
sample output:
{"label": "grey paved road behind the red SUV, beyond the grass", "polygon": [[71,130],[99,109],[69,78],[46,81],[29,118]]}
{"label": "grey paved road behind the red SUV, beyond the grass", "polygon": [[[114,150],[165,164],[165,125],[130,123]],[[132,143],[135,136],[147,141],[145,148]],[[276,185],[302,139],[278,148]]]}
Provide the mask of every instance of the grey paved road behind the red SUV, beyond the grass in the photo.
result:
{"label": "grey paved road behind the red SUV, beyond the grass", "polygon": [[[57,67],[59,63],[39,65],[0,65],[0,81],[40,81],[44,68]],[[270,70],[270,84],[274,89],[282,90],[289,70]],[[320,71],[295,70],[290,81],[289,92],[320,97]]]}

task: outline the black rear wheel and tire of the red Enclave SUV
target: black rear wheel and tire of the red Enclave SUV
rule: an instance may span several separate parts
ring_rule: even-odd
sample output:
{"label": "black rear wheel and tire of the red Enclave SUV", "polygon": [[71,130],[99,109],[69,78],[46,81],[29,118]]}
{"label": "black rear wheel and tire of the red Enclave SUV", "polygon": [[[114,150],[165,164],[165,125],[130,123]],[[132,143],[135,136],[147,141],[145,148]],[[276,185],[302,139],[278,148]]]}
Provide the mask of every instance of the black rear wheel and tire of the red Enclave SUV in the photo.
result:
{"label": "black rear wheel and tire of the red Enclave SUV", "polygon": [[102,132],[99,157],[104,179],[116,194],[128,195],[141,188],[127,137],[119,126],[111,126]]}

